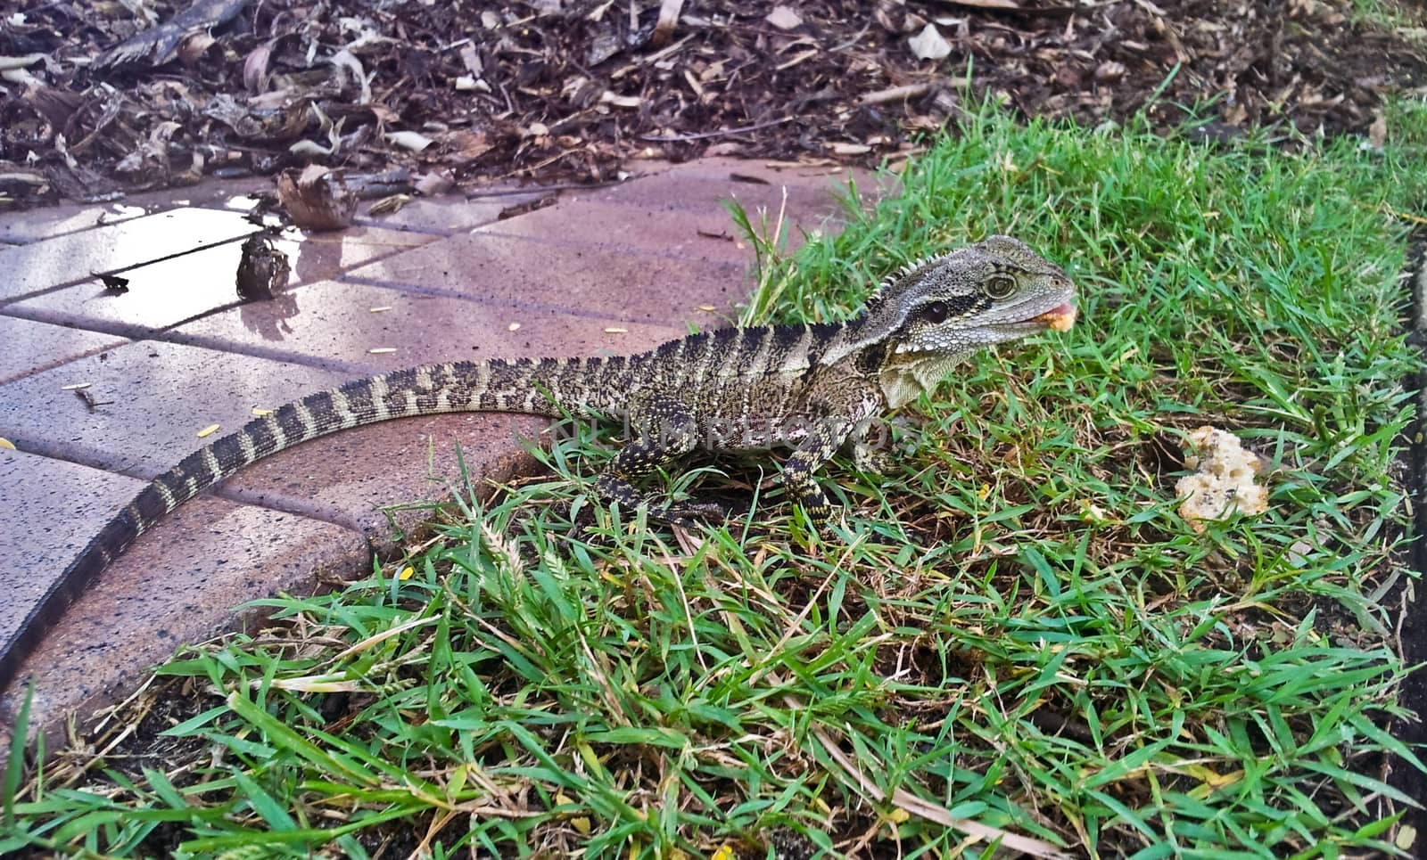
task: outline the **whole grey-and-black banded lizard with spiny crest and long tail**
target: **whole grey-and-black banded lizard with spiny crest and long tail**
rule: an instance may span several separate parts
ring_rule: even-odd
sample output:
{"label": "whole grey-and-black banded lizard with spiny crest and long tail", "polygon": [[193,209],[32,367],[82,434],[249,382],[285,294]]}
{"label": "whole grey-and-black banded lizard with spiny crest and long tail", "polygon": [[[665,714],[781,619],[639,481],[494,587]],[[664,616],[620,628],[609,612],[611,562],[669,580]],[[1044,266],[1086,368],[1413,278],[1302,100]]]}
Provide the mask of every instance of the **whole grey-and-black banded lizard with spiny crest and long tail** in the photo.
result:
{"label": "whole grey-and-black banded lizard with spiny crest and long tail", "polygon": [[870,422],[950,368],[1002,341],[1076,319],[1075,284],[1019,240],[992,235],[919,260],[882,281],[843,322],[716,328],[636,355],[432,364],[357,379],[285,404],[188,455],[138,495],[80,552],[0,652],[0,689],[49,625],[100,572],[187,499],[265,456],[342,429],[438,412],[624,415],[628,442],[596,476],[599,496],[645,505],[651,519],[688,522],[639,489],[701,444],[711,452],[786,448],[782,482],[813,523],[832,516],[815,472],[841,448],[876,471]]}

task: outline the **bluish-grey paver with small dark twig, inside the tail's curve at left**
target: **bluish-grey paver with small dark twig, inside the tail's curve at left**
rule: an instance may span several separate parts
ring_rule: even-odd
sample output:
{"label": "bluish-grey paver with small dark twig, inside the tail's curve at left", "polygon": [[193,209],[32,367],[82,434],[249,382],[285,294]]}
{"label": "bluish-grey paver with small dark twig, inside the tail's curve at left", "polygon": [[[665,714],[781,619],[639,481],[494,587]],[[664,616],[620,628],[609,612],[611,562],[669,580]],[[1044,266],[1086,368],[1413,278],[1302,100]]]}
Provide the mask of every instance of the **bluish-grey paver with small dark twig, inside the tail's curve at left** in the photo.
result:
{"label": "bluish-grey paver with small dark twig, inside the tail's curve at left", "polygon": [[[275,362],[198,347],[138,341],[0,387],[6,436],[21,451],[153,478],[204,441],[220,424],[230,432],[253,418],[253,406],[285,404],[323,391],[350,374]],[[88,409],[68,384],[100,405]],[[213,441],[211,438],[208,441]]]}

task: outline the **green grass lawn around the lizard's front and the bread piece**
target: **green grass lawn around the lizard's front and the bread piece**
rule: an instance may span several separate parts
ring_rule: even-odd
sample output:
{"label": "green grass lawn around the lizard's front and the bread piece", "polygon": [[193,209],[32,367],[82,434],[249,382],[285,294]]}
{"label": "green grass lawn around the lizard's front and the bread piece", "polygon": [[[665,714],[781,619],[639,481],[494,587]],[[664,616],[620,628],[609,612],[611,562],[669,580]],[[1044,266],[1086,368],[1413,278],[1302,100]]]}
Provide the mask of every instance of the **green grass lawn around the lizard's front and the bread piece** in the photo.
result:
{"label": "green grass lawn around the lizard's front and the bread piece", "polygon": [[[578,429],[541,478],[465,488],[410,560],[274,602],[285,633],[181,655],[161,673],[191,710],[7,784],[0,851],[1383,850],[1406,799],[1380,759],[1413,756],[1380,727],[1403,673],[1381,600],[1406,575],[1421,138],[1284,154],[970,116],[841,234],[759,244],[745,321],[842,318],[989,232],[1065,264],[1082,321],[909,409],[892,473],[829,468],[845,523],[813,535],[719,464],[675,489],[746,518],[649,528],[594,503],[612,439]],[[1203,424],[1271,464],[1267,513],[1177,516]]]}

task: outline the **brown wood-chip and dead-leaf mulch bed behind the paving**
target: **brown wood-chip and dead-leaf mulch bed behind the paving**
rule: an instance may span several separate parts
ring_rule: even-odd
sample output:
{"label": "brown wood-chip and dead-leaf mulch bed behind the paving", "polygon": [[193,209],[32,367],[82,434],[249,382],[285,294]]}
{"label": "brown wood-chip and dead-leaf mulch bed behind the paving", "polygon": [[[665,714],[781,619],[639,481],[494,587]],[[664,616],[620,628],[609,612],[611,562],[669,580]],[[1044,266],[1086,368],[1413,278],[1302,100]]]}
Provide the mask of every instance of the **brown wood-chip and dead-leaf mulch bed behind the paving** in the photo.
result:
{"label": "brown wood-chip and dead-leaf mulch bed behind the paving", "polygon": [[1381,144],[1424,34],[1347,0],[54,0],[0,17],[0,208],[313,163],[385,191],[876,164],[986,97]]}

